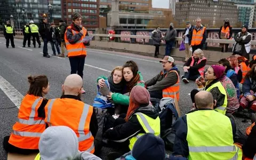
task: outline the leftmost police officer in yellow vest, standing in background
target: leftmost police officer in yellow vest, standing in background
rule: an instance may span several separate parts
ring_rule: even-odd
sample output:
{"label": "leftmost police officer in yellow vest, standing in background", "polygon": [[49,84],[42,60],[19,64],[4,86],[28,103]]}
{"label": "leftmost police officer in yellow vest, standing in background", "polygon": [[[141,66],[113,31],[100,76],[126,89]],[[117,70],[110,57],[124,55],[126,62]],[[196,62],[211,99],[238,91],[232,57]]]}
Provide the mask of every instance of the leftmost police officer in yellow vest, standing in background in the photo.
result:
{"label": "leftmost police officer in yellow vest, standing in background", "polygon": [[10,21],[6,21],[6,25],[4,25],[4,37],[6,39],[6,48],[9,47],[9,42],[11,41],[11,45],[13,48],[15,48],[13,36],[15,36],[15,30],[13,26],[11,25]]}

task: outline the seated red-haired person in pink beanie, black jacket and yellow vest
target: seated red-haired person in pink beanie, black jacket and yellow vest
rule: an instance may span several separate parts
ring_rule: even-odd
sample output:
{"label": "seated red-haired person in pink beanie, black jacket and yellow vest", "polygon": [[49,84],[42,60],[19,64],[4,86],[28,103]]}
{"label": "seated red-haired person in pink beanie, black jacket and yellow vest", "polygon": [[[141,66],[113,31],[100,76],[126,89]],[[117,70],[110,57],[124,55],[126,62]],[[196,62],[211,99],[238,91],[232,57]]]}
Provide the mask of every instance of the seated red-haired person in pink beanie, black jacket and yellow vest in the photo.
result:
{"label": "seated red-haired person in pink beanie, black jacket and yellow vest", "polygon": [[[150,104],[150,95],[142,86],[134,86],[130,94],[130,105],[125,119],[117,118],[119,124],[108,129],[103,135],[113,147],[122,148],[123,153],[132,150],[134,143],[146,133],[160,135],[158,112]],[[115,143],[116,142],[116,143]]]}

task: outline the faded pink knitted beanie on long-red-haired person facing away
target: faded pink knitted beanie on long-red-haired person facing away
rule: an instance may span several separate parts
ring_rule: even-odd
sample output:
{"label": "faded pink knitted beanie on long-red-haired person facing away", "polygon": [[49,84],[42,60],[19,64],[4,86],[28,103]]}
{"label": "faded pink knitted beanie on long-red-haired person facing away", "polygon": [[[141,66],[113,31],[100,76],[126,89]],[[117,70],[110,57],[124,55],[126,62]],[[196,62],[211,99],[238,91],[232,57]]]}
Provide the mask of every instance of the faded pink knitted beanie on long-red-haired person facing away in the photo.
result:
{"label": "faded pink knitted beanie on long-red-haired person facing away", "polygon": [[131,90],[130,98],[136,104],[148,104],[150,101],[150,94],[145,87],[134,86]]}

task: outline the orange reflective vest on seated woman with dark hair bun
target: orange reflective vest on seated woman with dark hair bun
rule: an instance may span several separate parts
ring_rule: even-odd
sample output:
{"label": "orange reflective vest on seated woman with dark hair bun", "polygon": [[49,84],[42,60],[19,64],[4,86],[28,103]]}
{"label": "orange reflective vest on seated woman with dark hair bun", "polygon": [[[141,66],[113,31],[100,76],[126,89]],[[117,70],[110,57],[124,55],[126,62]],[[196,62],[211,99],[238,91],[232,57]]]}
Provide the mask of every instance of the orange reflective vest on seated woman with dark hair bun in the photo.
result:
{"label": "orange reflective vest on seated woman with dark hair bun", "polygon": [[27,94],[23,98],[18,121],[13,125],[9,143],[22,149],[38,149],[38,142],[45,130],[44,118],[38,117],[37,109],[42,97]]}

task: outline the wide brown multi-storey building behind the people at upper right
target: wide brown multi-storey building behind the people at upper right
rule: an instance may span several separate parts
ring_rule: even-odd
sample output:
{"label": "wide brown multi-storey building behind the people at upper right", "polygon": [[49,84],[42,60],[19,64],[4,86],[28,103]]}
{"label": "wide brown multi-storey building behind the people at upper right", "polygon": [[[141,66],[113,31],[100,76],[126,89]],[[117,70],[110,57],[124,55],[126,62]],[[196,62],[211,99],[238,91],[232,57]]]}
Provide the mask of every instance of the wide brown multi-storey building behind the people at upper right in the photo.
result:
{"label": "wide brown multi-storey building behind the people at upper right", "polygon": [[234,2],[218,0],[180,0],[175,6],[175,19],[179,25],[196,18],[202,19],[202,24],[208,27],[219,27],[228,18],[231,25],[237,24],[237,6]]}

